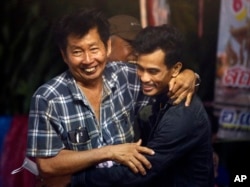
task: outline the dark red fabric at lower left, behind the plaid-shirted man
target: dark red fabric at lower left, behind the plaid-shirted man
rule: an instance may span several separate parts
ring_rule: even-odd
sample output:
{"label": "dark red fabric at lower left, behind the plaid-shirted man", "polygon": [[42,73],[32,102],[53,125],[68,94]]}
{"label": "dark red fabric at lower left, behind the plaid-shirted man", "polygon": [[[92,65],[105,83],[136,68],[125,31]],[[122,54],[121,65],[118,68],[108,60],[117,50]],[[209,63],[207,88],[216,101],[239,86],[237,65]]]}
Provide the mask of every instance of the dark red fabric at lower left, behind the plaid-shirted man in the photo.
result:
{"label": "dark red fabric at lower left, behind the plaid-shirted man", "polygon": [[28,116],[14,116],[3,145],[0,173],[2,187],[34,187],[35,176],[27,170],[11,175],[25,158]]}

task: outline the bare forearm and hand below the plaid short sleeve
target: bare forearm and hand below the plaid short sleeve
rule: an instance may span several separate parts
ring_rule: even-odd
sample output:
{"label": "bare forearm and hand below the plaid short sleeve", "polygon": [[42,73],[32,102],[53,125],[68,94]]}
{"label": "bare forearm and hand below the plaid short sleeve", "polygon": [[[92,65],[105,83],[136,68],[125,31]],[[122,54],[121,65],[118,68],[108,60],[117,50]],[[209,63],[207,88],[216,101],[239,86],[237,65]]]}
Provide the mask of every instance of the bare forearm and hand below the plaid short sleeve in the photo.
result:
{"label": "bare forearm and hand below the plaid short sleeve", "polygon": [[153,155],[153,150],[137,143],[104,146],[86,151],[61,150],[55,157],[37,158],[40,175],[44,178],[73,174],[98,163],[112,160],[128,166],[133,172],[144,174],[151,168],[150,162],[142,154]]}

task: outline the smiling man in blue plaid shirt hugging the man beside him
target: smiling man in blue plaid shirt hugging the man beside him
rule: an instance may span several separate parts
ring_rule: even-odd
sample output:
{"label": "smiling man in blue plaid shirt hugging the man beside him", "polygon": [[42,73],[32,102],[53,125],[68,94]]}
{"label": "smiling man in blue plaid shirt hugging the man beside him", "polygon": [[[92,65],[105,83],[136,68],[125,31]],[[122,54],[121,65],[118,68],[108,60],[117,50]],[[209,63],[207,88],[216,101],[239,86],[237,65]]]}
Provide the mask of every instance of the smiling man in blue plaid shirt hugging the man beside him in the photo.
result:
{"label": "smiling man in blue plaid shirt hugging the man beside him", "polygon": [[[151,168],[144,154],[154,152],[135,142],[133,124],[150,98],[141,92],[135,64],[107,63],[108,20],[80,9],[57,22],[54,37],[68,70],[31,99],[26,154],[38,165],[38,186],[66,186],[72,174],[93,165],[119,163],[144,174]],[[175,79],[175,103],[189,103],[194,93],[194,72],[184,72]]]}

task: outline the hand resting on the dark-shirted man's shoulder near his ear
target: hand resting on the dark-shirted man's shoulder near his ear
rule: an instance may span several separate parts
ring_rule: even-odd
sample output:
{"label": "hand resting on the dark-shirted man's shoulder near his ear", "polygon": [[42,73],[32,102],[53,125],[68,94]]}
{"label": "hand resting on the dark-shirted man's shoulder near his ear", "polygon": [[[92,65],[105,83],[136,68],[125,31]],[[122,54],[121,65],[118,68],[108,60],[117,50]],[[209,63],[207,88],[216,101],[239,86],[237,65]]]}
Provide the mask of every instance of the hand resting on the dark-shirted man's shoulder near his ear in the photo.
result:
{"label": "hand resting on the dark-shirted man's shoulder near his ear", "polygon": [[195,93],[196,75],[192,70],[185,69],[169,82],[168,96],[173,104],[179,104],[186,99],[185,106],[189,106]]}

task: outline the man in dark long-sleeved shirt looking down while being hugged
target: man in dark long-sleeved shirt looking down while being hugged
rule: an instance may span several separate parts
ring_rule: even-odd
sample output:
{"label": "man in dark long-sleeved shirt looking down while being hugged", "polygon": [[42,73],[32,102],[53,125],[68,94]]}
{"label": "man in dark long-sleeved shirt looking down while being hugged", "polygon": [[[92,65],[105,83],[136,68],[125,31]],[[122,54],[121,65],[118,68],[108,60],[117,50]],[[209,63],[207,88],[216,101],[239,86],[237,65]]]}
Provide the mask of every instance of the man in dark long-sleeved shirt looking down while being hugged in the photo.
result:
{"label": "man in dark long-sleeved shirt looking down while being hugged", "polygon": [[189,107],[172,105],[165,94],[185,66],[181,46],[180,33],[168,25],[147,27],[134,42],[143,93],[154,98],[152,115],[139,121],[143,143],[155,151],[146,155],[152,168],[146,175],[122,165],[90,168],[72,178],[73,186],[213,186],[211,126],[202,102],[194,96]]}

